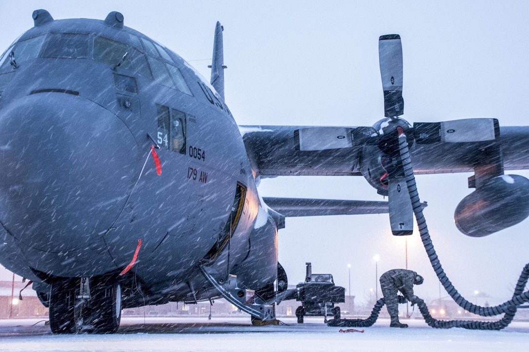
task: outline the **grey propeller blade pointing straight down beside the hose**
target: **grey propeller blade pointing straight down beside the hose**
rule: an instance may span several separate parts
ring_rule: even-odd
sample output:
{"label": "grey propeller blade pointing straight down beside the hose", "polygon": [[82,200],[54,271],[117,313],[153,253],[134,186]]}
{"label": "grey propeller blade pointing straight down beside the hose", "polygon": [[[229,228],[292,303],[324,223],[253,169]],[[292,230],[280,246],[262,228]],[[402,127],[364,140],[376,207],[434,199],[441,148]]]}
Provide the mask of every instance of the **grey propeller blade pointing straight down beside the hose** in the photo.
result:
{"label": "grey propeller blade pointing straight down beside the hose", "polygon": [[403,177],[388,181],[389,223],[394,236],[413,235],[413,208]]}

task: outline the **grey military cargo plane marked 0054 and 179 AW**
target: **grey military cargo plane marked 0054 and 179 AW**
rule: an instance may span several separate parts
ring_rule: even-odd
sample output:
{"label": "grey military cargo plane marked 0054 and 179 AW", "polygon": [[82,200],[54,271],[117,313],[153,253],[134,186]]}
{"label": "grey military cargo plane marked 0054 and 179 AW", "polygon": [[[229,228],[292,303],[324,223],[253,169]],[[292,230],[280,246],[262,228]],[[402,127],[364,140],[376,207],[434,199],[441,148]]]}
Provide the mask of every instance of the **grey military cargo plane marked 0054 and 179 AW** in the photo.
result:
{"label": "grey military cargo plane marked 0054 and 179 AW", "polygon": [[[475,173],[455,212],[463,233],[529,215],[529,180],[504,174],[529,168],[529,127],[404,121],[398,35],[379,39],[385,118],[373,126],[238,126],[220,23],[207,82],[119,12],[33,20],[0,58],[0,264],[33,282],[56,334],[112,333],[123,308],[218,297],[273,321],[285,217],[389,212],[395,235],[412,233],[397,126],[415,173]],[[260,196],[261,178],[287,175],[363,176],[388,201]]]}

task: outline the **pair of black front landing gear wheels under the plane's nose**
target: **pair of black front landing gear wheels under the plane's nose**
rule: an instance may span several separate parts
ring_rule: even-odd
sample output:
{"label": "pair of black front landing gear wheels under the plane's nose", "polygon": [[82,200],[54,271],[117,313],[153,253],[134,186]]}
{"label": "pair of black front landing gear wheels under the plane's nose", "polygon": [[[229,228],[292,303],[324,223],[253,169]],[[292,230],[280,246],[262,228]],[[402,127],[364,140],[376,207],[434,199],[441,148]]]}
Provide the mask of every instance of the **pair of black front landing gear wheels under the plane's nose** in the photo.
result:
{"label": "pair of black front landing gear wheels under the plane's nose", "polygon": [[58,279],[51,284],[53,334],[113,334],[121,321],[121,285],[113,276]]}

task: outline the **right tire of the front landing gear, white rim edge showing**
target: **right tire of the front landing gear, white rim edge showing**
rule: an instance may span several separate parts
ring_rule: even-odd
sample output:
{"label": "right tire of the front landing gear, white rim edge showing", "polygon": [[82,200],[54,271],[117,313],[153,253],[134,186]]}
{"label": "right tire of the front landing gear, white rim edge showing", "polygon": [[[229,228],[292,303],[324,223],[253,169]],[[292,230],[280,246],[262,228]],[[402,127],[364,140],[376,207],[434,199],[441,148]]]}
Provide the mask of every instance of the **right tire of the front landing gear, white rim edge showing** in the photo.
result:
{"label": "right tire of the front landing gear, white rim edge showing", "polygon": [[90,291],[94,332],[114,334],[121,322],[121,285],[113,278],[96,278]]}

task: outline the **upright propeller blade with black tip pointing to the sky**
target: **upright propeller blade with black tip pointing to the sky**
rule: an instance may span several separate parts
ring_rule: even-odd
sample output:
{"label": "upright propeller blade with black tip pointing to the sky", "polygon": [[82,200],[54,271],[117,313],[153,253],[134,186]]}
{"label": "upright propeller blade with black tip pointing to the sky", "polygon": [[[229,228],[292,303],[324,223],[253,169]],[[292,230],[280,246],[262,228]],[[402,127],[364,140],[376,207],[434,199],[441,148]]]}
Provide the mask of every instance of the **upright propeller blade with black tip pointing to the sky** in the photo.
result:
{"label": "upright propeller blade with black tip pointing to the sky", "polygon": [[378,40],[380,75],[384,89],[384,114],[396,117],[404,114],[402,98],[402,44],[398,34],[380,36]]}

